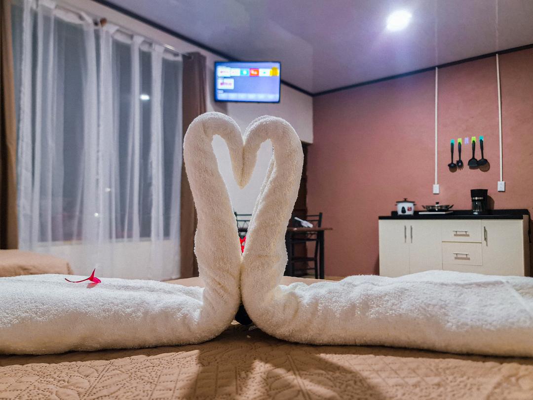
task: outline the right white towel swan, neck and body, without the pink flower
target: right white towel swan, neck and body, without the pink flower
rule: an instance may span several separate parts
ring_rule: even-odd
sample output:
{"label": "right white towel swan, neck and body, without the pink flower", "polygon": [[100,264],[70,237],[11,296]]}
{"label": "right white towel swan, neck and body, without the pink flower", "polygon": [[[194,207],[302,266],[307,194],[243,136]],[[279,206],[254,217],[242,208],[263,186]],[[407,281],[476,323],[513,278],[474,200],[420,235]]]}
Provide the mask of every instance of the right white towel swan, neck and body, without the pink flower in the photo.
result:
{"label": "right white towel swan, neck and body, without the pink flower", "polygon": [[271,128],[274,152],[241,273],[243,303],[257,326],[280,339],[318,345],[533,356],[533,278],[427,271],[279,285],[303,156],[288,124]]}

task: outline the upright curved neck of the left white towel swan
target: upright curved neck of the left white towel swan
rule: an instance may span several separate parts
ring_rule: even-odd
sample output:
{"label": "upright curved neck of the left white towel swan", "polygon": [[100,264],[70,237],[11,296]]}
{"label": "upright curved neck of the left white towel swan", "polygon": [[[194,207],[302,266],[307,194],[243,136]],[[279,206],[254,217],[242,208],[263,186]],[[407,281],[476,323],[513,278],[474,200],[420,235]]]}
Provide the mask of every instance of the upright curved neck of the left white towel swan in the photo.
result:
{"label": "upright curved neck of the left white towel swan", "polygon": [[200,115],[189,125],[183,159],[198,216],[198,271],[205,282],[196,323],[218,334],[231,323],[240,304],[241,250],[228,189],[213,151],[215,135],[227,143],[233,173],[242,180],[243,138],[235,121],[221,113]]}

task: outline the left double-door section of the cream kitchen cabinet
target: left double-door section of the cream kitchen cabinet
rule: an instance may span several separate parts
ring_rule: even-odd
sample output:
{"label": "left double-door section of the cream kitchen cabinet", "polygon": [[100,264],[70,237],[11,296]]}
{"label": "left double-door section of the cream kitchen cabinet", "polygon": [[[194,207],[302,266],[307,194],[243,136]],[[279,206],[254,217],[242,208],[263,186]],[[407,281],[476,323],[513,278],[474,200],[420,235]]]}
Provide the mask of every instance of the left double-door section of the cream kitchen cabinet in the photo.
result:
{"label": "left double-door section of the cream kitchen cabinet", "polygon": [[440,229],[432,221],[380,220],[379,274],[393,277],[442,269],[440,242]]}

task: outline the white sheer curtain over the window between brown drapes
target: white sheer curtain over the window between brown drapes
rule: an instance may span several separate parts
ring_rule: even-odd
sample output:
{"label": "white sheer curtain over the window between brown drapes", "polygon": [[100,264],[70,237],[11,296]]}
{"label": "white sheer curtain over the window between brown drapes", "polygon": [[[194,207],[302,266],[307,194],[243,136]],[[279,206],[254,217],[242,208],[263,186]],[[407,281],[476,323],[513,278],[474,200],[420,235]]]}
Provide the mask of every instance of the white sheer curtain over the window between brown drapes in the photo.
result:
{"label": "white sheer curtain over the window between brown drapes", "polygon": [[179,56],[51,0],[13,2],[21,249],[179,276]]}

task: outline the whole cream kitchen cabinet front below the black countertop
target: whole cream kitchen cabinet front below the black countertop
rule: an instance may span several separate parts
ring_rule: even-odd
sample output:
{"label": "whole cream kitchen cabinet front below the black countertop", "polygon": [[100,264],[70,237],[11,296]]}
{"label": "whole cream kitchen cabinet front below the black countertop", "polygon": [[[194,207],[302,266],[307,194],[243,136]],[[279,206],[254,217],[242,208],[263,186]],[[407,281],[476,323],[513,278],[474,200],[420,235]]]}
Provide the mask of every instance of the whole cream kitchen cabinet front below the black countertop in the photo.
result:
{"label": "whole cream kitchen cabinet front below the black countertop", "polygon": [[379,219],[379,275],[445,269],[530,276],[528,227],[528,215]]}

